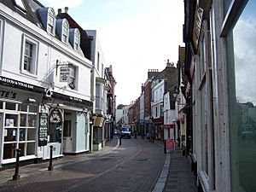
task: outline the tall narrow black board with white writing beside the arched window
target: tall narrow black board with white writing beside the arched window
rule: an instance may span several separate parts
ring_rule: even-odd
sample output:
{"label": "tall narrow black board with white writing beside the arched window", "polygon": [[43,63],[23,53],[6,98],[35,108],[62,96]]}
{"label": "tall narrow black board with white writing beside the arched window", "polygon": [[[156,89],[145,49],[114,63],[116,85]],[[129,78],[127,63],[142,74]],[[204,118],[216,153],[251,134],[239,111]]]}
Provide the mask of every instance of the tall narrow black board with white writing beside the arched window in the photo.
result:
{"label": "tall narrow black board with white writing beside the arched window", "polygon": [[38,146],[47,145],[48,135],[48,115],[47,113],[39,113],[39,131],[38,131]]}

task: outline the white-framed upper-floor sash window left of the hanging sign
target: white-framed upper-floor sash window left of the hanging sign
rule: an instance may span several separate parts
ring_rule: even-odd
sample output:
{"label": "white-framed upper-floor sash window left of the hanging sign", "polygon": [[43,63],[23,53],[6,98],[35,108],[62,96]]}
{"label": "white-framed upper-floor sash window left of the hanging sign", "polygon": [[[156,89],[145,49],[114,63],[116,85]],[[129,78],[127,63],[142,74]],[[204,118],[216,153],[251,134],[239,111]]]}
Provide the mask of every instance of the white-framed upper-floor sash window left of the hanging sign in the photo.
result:
{"label": "white-framed upper-floor sash window left of the hanging sign", "polygon": [[38,42],[24,35],[21,72],[37,74]]}

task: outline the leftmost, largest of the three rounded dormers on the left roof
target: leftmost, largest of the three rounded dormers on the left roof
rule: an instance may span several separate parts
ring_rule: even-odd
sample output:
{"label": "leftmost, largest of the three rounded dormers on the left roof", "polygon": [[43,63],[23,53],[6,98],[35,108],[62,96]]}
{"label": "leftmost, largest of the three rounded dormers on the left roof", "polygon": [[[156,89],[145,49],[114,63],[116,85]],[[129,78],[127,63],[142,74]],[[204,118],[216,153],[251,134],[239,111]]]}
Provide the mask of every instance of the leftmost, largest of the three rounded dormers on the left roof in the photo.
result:
{"label": "leftmost, largest of the three rounded dormers on the left roof", "polygon": [[43,26],[46,32],[55,36],[55,11],[52,8],[40,8],[38,9],[38,15],[40,16]]}

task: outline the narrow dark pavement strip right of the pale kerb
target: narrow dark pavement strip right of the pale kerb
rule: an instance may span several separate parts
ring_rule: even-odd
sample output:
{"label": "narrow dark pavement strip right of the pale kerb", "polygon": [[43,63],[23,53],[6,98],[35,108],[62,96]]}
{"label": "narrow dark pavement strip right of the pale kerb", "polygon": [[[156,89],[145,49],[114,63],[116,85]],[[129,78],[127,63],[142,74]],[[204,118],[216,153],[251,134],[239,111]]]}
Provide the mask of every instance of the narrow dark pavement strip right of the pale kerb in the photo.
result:
{"label": "narrow dark pavement strip right of the pale kerb", "polygon": [[171,153],[169,174],[164,192],[197,192],[189,161],[181,150]]}

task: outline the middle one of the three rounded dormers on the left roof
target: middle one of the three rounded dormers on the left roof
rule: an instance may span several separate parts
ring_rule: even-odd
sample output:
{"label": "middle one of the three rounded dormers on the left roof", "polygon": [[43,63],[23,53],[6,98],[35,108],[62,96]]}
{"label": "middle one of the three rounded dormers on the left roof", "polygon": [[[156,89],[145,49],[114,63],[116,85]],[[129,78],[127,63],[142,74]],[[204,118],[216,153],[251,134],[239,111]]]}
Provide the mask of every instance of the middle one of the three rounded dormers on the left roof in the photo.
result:
{"label": "middle one of the three rounded dormers on the left roof", "polygon": [[67,44],[69,37],[69,24],[66,19],[59,19],[56,21],[56,32],[61,38],[60,40]]}

